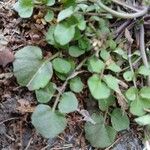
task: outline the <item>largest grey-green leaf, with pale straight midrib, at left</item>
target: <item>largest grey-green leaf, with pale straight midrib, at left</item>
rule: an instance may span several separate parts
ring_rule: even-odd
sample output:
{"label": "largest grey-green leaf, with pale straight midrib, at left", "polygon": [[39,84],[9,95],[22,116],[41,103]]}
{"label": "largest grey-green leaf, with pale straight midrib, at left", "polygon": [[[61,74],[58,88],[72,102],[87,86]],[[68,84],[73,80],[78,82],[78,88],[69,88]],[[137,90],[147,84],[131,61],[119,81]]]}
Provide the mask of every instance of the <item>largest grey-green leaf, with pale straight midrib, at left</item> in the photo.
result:
{"label": "largest grey-green leaf, with pale straight midrib, at left", "polygon": [[29,90],[44,88],[53,75],[51,62],[42,59],[42,51],[36,46],[17,51],[13,67],[18,83]]}

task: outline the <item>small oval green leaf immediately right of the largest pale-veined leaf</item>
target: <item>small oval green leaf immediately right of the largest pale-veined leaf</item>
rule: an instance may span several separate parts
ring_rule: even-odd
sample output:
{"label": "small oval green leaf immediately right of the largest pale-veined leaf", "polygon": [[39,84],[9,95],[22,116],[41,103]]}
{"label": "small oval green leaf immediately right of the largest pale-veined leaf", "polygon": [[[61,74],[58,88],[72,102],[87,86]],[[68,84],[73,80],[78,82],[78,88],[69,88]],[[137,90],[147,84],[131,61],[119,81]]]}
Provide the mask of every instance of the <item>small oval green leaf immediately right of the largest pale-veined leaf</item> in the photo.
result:
{"label": "small oval green leaf immediately right of the largest pale-veined leaf", "polygon": [[71,64],[63,58],[55,58],[52,61],[54,69],[62,74],[67,74],[71,71]]}

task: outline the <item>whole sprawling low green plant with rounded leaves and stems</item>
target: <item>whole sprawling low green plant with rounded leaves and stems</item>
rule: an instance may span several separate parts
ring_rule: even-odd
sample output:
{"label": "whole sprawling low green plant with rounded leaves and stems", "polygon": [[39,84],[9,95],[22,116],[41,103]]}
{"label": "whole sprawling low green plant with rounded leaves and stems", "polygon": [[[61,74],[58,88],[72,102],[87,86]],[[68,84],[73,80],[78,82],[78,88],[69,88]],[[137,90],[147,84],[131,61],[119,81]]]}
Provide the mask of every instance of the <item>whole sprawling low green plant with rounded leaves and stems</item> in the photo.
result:
{"label": "whole sprawling low green plant with rounded leaves and stems", "polygon": [[[132,54],[126,50],[126,45],[131,48],[131,35],[126,33],[118,42],[109,27],[113,16],[136,18],[148,9],[120,13],[106,6],[115,1],[19,0],[15,4],[22,18],[32,17],[34,9],[43,10],[44,25],[49,26],[45,39],[54,48],[52,56],[43,57],[38,46],[25,46],[16,52],[13,63],[18,83],[35,91],[39,104],[31,119],[42,136],[53,138],[62,133],[68,113],[82,114],[76,93],[84,90],[90,91],[99,106],[85,123],[85,136],[92,146],[110,146],[119,131],[129,129],[129,113],[139,116],[135,119],[138,124],[150,124],[150,87],[137,88],[136,83],[138,78],[149,78],[149,67],[140,64],[134,69],[141,56],[138,50]],[[88,74],[88,89],[82,73]],[[54,83],[54,76],[63,82],[60,87]]]}

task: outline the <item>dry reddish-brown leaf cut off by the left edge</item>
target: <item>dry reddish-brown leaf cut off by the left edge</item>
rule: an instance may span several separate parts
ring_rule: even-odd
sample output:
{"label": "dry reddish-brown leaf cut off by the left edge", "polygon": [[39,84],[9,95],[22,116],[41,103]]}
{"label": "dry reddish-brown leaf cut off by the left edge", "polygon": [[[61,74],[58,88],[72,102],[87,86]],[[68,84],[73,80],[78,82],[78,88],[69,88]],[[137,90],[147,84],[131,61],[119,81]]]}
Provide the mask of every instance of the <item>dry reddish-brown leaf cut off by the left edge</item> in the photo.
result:
{"label": "dry reddish-brown leaf cut off by the left edge", "polygon": [[6,47],[0,47],[0,65],[5,67],[14,60],[13,53]]}

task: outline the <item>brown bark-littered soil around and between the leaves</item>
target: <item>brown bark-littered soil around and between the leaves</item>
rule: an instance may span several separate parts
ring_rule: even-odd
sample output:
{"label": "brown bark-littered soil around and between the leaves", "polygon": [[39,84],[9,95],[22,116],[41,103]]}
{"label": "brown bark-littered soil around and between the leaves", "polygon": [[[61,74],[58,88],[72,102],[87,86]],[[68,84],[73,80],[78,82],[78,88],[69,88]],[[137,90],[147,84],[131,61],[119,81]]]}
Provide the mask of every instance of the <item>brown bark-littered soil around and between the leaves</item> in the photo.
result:
{"label": "brown bark-littered soil around and between the leaves", "polygon": [[[19,18],[12,10],[14,3],[13,0],[0,1],[0,48],[15,53],[22,46],[36,44],[48,50],[43,40],[44,26],[35,20]],[[86,92],[79,98],[81,103],[84,102]],[[46,140],[38,135],[30,122],[31,112],[36,105],[35,95],[17,84],[12,75],[12,65],[0,67],[0,150],[94,149],[85,140],[84,122],[76,113],[69,116],[68,128],[58,138]],[[109,149],[141,150],[140,136],[135,133],[132,129],[120,134],[117,145]]]}

